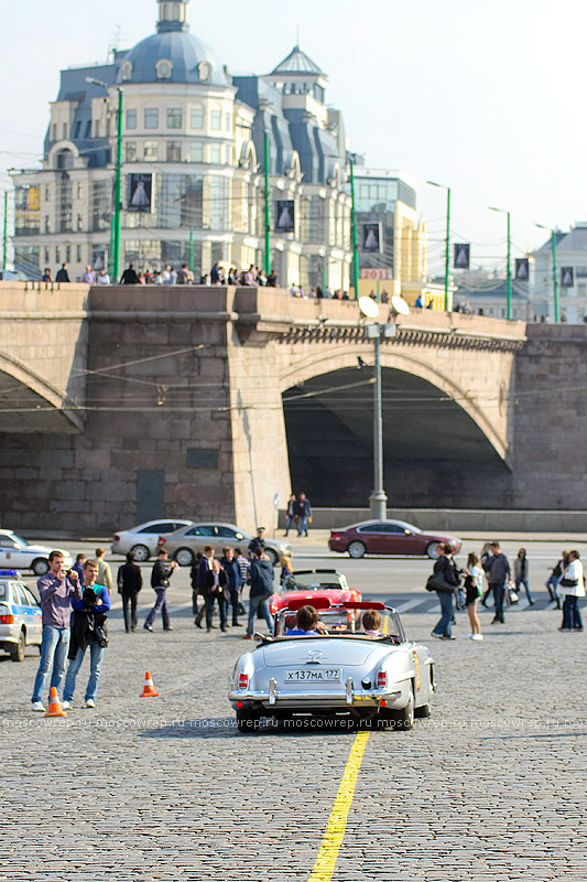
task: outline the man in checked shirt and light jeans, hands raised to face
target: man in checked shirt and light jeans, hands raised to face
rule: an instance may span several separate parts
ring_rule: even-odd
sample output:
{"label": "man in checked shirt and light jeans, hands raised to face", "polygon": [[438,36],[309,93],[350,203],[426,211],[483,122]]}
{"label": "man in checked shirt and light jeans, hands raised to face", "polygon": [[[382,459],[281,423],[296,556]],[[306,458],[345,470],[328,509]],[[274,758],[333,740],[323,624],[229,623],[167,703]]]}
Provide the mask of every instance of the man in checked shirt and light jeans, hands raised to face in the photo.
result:
{"label": "man in checked shirt and light jeans, hands raised to face", "polygon": [[81,600],[77,572],[74,570],[66,572],[63,560],[61,551],[52,551],[48,556],[48,572],[36,583],[41,596],[43,638],[41,662],[33,688],[32,710],[40,712],[45,711],[43,692],[52,665],[51,686],[57,690],[61,687],[69,648],[70,600]]}

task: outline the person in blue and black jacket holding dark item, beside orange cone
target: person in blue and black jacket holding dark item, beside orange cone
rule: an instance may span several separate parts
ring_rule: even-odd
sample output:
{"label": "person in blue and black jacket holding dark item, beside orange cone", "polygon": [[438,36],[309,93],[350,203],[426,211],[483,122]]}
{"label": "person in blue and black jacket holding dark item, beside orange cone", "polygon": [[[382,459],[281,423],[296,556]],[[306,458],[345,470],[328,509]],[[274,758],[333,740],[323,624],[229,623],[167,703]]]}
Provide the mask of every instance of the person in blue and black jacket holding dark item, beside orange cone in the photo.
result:
{"label": "person in blue and black jacket holding dark item, beside orange cone", "polygon": [[72,636],[69,641],[69,665],[63,688],[63,708],[72,707],[75,681],[89,646],[89,679],[84,702],[86,708],[96,707],[96,696],[102,668],[104,650],[108,646],[106,621],[110,611],[110,594],[106,585],[96,581],[98,563],[86,560],[84,563],[84,594],[81,600],[72,600]]}

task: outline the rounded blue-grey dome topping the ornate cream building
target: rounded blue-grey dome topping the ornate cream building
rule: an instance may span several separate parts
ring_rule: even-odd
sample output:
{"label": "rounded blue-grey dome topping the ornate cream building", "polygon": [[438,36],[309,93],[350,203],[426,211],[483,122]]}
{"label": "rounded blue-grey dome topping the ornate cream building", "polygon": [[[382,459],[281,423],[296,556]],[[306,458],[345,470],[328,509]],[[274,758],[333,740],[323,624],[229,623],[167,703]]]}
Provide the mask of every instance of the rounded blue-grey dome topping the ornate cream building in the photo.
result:
{"label": "rounded blue-grey dome topping the ornate cream building", "polygon": [[[157,62],[171,62],[171,73]],[[119,83],[211,83],[229,85],[214,50],[203,40],[182,31],[156,33],[141,40],[126,56]]]}

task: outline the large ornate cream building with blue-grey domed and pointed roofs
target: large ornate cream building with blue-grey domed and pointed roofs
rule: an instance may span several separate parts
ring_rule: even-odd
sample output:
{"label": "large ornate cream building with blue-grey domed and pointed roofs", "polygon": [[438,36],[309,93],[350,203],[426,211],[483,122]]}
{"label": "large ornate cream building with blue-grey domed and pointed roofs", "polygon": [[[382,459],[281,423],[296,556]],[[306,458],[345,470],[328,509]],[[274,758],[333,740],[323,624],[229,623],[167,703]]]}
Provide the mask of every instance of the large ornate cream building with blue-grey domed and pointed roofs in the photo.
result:
{"label": "large ornate cream building with blue-grey domed and pointed roofs", "polygon": [[155,34],[108,64],[62,71],[42,169],[14,178],[17,267],[39,278],[66,261],[76,279],[108,263],[122,89],[124,266],[261,266],[267,135],[280,283],[347,289],[347,144],[326,75],[295,46],[267,76],[230,76],[188,33],[188,2],[157,0]]}

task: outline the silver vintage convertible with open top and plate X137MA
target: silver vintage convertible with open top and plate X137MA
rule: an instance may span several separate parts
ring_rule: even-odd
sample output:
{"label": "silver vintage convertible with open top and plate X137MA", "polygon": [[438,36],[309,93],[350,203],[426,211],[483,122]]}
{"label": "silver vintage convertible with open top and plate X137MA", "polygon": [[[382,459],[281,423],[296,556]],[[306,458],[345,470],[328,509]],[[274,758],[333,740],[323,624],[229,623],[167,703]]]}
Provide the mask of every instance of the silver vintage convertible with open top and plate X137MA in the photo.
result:
{"label": "silver vintage convertible with open top and plate X137MA", "polygon": [[[258,729],[261,717],[345,714],[411,729],[414,717],[430,716],[434,662],[426,646],[407,641],[395,610],[380,602],[316,598],[312,605],[325,633],[287,635],[296,611],[307,603],[295,599],[280,610],[274,635],[261,638],[235,665],[228,698],[240,732]],[[361,632],[366,610],[381,616],[374,633]]]}

